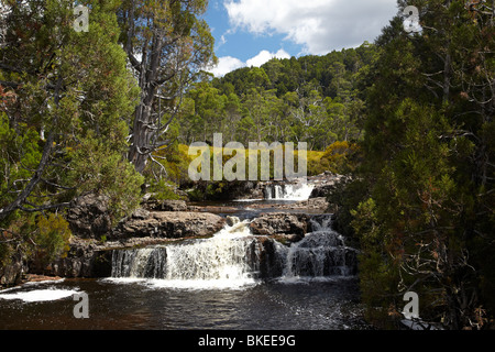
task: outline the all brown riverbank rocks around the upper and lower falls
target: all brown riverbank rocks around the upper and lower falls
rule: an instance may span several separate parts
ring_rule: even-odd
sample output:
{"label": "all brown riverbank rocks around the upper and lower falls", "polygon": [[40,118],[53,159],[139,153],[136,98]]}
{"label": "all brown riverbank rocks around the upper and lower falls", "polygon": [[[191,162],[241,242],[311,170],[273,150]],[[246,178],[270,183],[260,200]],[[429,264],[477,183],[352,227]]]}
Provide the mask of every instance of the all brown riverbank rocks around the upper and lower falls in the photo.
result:
{"label": "all brown riverbank rocks around the upper and lower falls", "polygon": [[[249,202],[256,217],[250,224],[254,235],[272,237],[283,243],[300,241],[308,231],[310,215],[331,212],[323,197],[336,185],[345,180],[329,173],[310,177],[309,199],[292,202]],[[242,186],[235,197],[258,199],[274,182]],[[157,245],[193,238],[208,238],[224,228],[228,216],[239,207],[198,205],[185,200],[157,200],[153,195],[143,198],[142,208],[112,227],[107,211],[108,199],[85,195],[73,202],[67,212],[73,238],[67,256],[40,267],[21,257],[0,268],[0,284],[12,285],[26,275],[56,277],[107,277],[111,274],[113,250]],[[266,210],[266,211],[264,211]],[[270,252],[270,251],[268,251]]]}

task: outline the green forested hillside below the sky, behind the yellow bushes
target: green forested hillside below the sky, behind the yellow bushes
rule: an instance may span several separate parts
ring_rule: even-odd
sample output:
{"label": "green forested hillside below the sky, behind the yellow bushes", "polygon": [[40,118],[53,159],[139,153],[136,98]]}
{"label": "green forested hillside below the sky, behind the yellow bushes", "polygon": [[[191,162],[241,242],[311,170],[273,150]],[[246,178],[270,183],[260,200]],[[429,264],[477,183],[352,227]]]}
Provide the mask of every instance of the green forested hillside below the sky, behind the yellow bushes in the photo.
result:
{"label": "green forested hillside below the sky, behind the yellow bushes", "polygon": [[376,58],[374,45],[326,56],[272,59],[188,91],[177,120],[185,144],[226,141],[306,142],[324,151],[337,141],[362,136],[364,102],[359,84]]}

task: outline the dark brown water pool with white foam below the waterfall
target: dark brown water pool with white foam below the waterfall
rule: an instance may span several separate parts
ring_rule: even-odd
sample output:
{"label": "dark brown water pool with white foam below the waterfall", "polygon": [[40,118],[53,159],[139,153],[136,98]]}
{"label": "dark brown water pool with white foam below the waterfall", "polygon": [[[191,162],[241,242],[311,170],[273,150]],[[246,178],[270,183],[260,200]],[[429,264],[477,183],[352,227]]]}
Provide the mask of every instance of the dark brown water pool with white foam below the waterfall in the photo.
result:
{"label": "dark brown water pool with white foam below the waterfall", "polygon": [[[354,277],[176,289],[147,279],[65,279],[0,292],[0,329],[363,330]],[[74,294],[88,295],[76,319]]]}

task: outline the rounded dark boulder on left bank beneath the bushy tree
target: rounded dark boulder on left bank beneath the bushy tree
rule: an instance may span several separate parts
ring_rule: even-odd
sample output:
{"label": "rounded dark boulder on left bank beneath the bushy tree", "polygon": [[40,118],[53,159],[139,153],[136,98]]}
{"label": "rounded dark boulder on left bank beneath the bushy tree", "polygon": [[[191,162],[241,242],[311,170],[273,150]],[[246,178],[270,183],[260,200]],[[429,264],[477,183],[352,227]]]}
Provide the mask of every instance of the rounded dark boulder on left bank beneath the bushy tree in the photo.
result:
{"label": "rounded dark boulder on left bank beneath the bushy tree", "polygon": [[109,197],[95,194],[73,201],[66,216],[73,234],[82,239],[99,239],[108,233],[112,226],[108,204]]}

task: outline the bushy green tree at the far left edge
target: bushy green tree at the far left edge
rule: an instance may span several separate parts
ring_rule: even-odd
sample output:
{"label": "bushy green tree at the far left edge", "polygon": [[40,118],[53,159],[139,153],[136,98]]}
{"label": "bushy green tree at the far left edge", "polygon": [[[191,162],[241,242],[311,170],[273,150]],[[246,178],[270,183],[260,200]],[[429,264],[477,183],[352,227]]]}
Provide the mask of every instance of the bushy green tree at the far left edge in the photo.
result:
{"label": "bushy green tree at the far left edge", "polygon": [[35,223],[31,215],[58,211],[89,191],[109,196],[120,219],[139,202],[143,179],[123,158],[139,90],[118,44],[118,1],[82,2],[91,11],[88,33],[74,30],[64,1],[1,3],[2,231],[22,241],[32,229],[12,230],[20,218]]}

